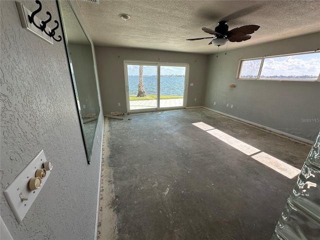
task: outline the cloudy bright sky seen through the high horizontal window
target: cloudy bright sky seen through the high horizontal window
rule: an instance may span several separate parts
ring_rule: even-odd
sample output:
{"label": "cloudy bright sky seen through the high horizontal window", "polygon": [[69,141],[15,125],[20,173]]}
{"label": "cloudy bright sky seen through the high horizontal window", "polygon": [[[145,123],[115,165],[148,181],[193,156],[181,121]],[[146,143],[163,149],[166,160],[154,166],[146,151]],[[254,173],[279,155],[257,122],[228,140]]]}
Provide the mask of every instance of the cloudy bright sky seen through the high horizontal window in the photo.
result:
{"label": "cloudy bright sky seen through the high horizontal window", "polygon": [[[244,61],[241,75],[257,75],[261,60]],[[320,52],[265,58],[261,75],[315,75],[320,73]]]}

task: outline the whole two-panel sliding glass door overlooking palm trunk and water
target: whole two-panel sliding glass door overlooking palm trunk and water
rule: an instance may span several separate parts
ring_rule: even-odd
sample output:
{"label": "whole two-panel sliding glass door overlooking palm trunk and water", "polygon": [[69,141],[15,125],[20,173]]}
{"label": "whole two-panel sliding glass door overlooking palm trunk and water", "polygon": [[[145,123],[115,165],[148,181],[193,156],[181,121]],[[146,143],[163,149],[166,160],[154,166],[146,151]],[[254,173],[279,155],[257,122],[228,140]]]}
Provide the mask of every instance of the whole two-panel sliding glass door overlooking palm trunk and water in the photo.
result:
{"label": "whole two-panel sliding glass door overlooking palm trunk and water", "polygon": [[188,64],[124,61],[128,112],[182,108]]}

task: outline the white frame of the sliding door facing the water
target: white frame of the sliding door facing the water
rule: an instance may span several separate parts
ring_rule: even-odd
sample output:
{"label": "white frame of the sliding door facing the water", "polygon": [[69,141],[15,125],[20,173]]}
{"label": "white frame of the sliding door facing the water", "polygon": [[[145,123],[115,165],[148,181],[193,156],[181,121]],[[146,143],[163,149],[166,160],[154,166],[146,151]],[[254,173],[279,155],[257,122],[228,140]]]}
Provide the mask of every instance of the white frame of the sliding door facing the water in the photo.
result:
{"label": "white frame of the sliding door facing the water", "polygon": [[[129,79],[127,65],[152,65],[157,66],[156,74],[156,107],[130,110],[129,99]],[[157,62],[157,61],[139,61],[139,60],[123,60],[124,66],[124,81],[125,81],[125,98],[127,112],[146,112],[146,111],[164,111],[171,109],[184,109],[187,102],[188,84],[189,84],[189,63],[173,63],[173,62]],[[184,89],[183,89],[183,104],[176,107],[160,107],[160,66],[182,66],[185,67],[184,72]]]}

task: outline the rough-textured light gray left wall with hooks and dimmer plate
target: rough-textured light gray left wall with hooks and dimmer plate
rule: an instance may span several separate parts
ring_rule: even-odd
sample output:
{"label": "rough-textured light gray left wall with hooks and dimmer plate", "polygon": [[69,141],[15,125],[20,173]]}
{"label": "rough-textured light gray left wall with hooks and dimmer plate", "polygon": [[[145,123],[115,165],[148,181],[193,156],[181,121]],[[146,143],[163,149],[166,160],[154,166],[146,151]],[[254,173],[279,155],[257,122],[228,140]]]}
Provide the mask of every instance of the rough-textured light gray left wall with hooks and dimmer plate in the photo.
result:
{"label": "rough-textured light gray left wall with hooks and dimmer plate", "polygon": [[[40,18],[50,11],[58,19],[56,2],[41,2]],[[93,239],[102,112],[88,165],[63,41],[51,45],[23,29],[15,1],[0,6],[1,217],[14,239]],[[18,224],[2,191],[41,149],[53,169]]]}

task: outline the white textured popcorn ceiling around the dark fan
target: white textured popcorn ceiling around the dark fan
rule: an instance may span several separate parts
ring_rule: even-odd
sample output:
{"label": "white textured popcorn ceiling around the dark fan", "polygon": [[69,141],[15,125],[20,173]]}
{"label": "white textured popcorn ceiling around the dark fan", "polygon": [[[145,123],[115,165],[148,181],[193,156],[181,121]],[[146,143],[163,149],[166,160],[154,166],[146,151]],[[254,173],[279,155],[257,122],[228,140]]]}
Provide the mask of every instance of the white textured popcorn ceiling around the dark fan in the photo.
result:
{"label": "white textured popcorn ceiling around the dark fan", "polygon": [[[100,0],[99,4],[78,1],[95,45],[204,54],[217,51],[217,46],[208,45],[210,39],[185,39],[213,36],[201,27],[214,29],[220,20],[228,21],[229,30],[247,24],[260,26],[251,39],[229,42],[228,49],[320,31],[319,3],[319,0]],[[120,13],[131,18],[123,21],[118,17]]]}

